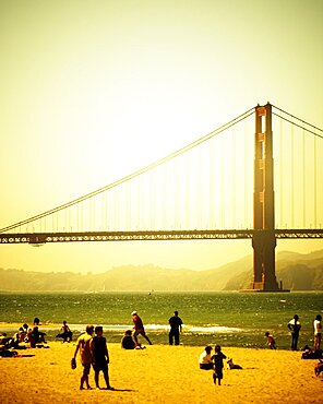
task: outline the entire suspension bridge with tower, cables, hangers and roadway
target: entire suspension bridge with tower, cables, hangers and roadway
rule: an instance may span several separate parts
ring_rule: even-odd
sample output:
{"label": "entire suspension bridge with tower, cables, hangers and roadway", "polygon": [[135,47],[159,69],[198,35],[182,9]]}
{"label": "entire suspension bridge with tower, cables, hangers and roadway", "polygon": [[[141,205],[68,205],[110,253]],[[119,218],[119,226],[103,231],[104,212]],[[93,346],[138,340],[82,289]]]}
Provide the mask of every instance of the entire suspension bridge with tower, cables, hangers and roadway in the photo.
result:
{"label": "entire suspension bridge with tower, cables, hangers and roadway", "polygon": [[323,238],[323,130],[258,105],[94,192],[0,229],[2,246],[251,239],[252,290],[282,290],[276,240]]}

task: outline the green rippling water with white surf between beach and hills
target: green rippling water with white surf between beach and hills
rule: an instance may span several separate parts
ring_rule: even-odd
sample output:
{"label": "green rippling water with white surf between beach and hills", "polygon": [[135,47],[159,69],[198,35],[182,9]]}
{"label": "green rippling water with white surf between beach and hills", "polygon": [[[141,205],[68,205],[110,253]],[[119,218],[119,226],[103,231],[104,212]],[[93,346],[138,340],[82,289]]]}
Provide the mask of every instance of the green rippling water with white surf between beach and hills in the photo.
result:
{"label": "green rippling water with white surf between beach and hills", "polygon": [[156,344],[168,343],[168,319],[178,310],[184,345],[265,347],[264,333],[270,331],[280,349],[290,347],[287,323],[297,313],[301,348],[313,345],[313,320],[323,312],[323,293],[0,293],[0,321],[32,324],[38,317],[48,341],[59,329],[46,323],[67,320],[74,337],[92,323],[104,325],[108,342],[120,342],[132,329],[133,310]]}

